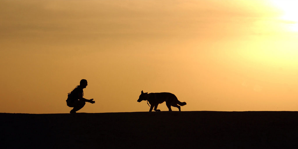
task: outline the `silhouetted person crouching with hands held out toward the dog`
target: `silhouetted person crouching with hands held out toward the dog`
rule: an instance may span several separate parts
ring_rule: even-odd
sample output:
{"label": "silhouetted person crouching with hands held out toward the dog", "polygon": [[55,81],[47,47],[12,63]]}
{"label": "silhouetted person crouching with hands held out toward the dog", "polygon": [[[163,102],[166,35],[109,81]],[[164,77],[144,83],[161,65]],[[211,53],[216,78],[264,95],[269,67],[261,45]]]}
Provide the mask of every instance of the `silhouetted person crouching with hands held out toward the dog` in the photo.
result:
{"label": "silhouetted person crouching with hands held out toward the dog", "polygon": [[68,93],[66,104],[69,107],[73,107],[70,113],[76,113],[76,111],[84,107],[86,102],[95,103],[93,99],[88,100],[83,98],[84,96],[83,89],[85,89],[87,85],[88,85],[87,80],[82,79],[80,81],[80,85],[78,85],[75,89],[73,89],[70,93]]}

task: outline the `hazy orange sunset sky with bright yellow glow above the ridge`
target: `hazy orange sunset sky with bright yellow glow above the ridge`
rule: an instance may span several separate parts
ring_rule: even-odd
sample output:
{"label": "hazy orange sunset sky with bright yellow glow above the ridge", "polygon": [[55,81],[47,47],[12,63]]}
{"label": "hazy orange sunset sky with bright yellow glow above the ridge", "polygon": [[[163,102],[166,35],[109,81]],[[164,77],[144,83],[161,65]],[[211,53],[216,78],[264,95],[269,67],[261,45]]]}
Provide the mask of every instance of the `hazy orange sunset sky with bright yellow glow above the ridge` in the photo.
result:
{"label": "hazy orange sunset sky with bright yellow glow above the ridge", "polygon": [[[0,1],[0,112],[297,111],[295,1]],[[167,111],[165,103],[159,109]],[[177,111],[177,108],[172,108]]]}

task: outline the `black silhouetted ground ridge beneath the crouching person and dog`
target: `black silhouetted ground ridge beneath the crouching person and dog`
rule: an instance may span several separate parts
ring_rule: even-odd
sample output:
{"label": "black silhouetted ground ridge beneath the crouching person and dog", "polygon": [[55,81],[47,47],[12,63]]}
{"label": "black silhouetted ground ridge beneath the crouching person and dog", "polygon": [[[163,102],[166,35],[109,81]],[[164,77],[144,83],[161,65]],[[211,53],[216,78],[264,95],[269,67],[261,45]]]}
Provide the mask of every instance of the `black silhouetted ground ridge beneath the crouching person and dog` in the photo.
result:
{"label": "black silhouetted ground ridge beneath the crouching person and dog", "polygon": [[0,148],[297,148],[297,111],[0,113]]}

